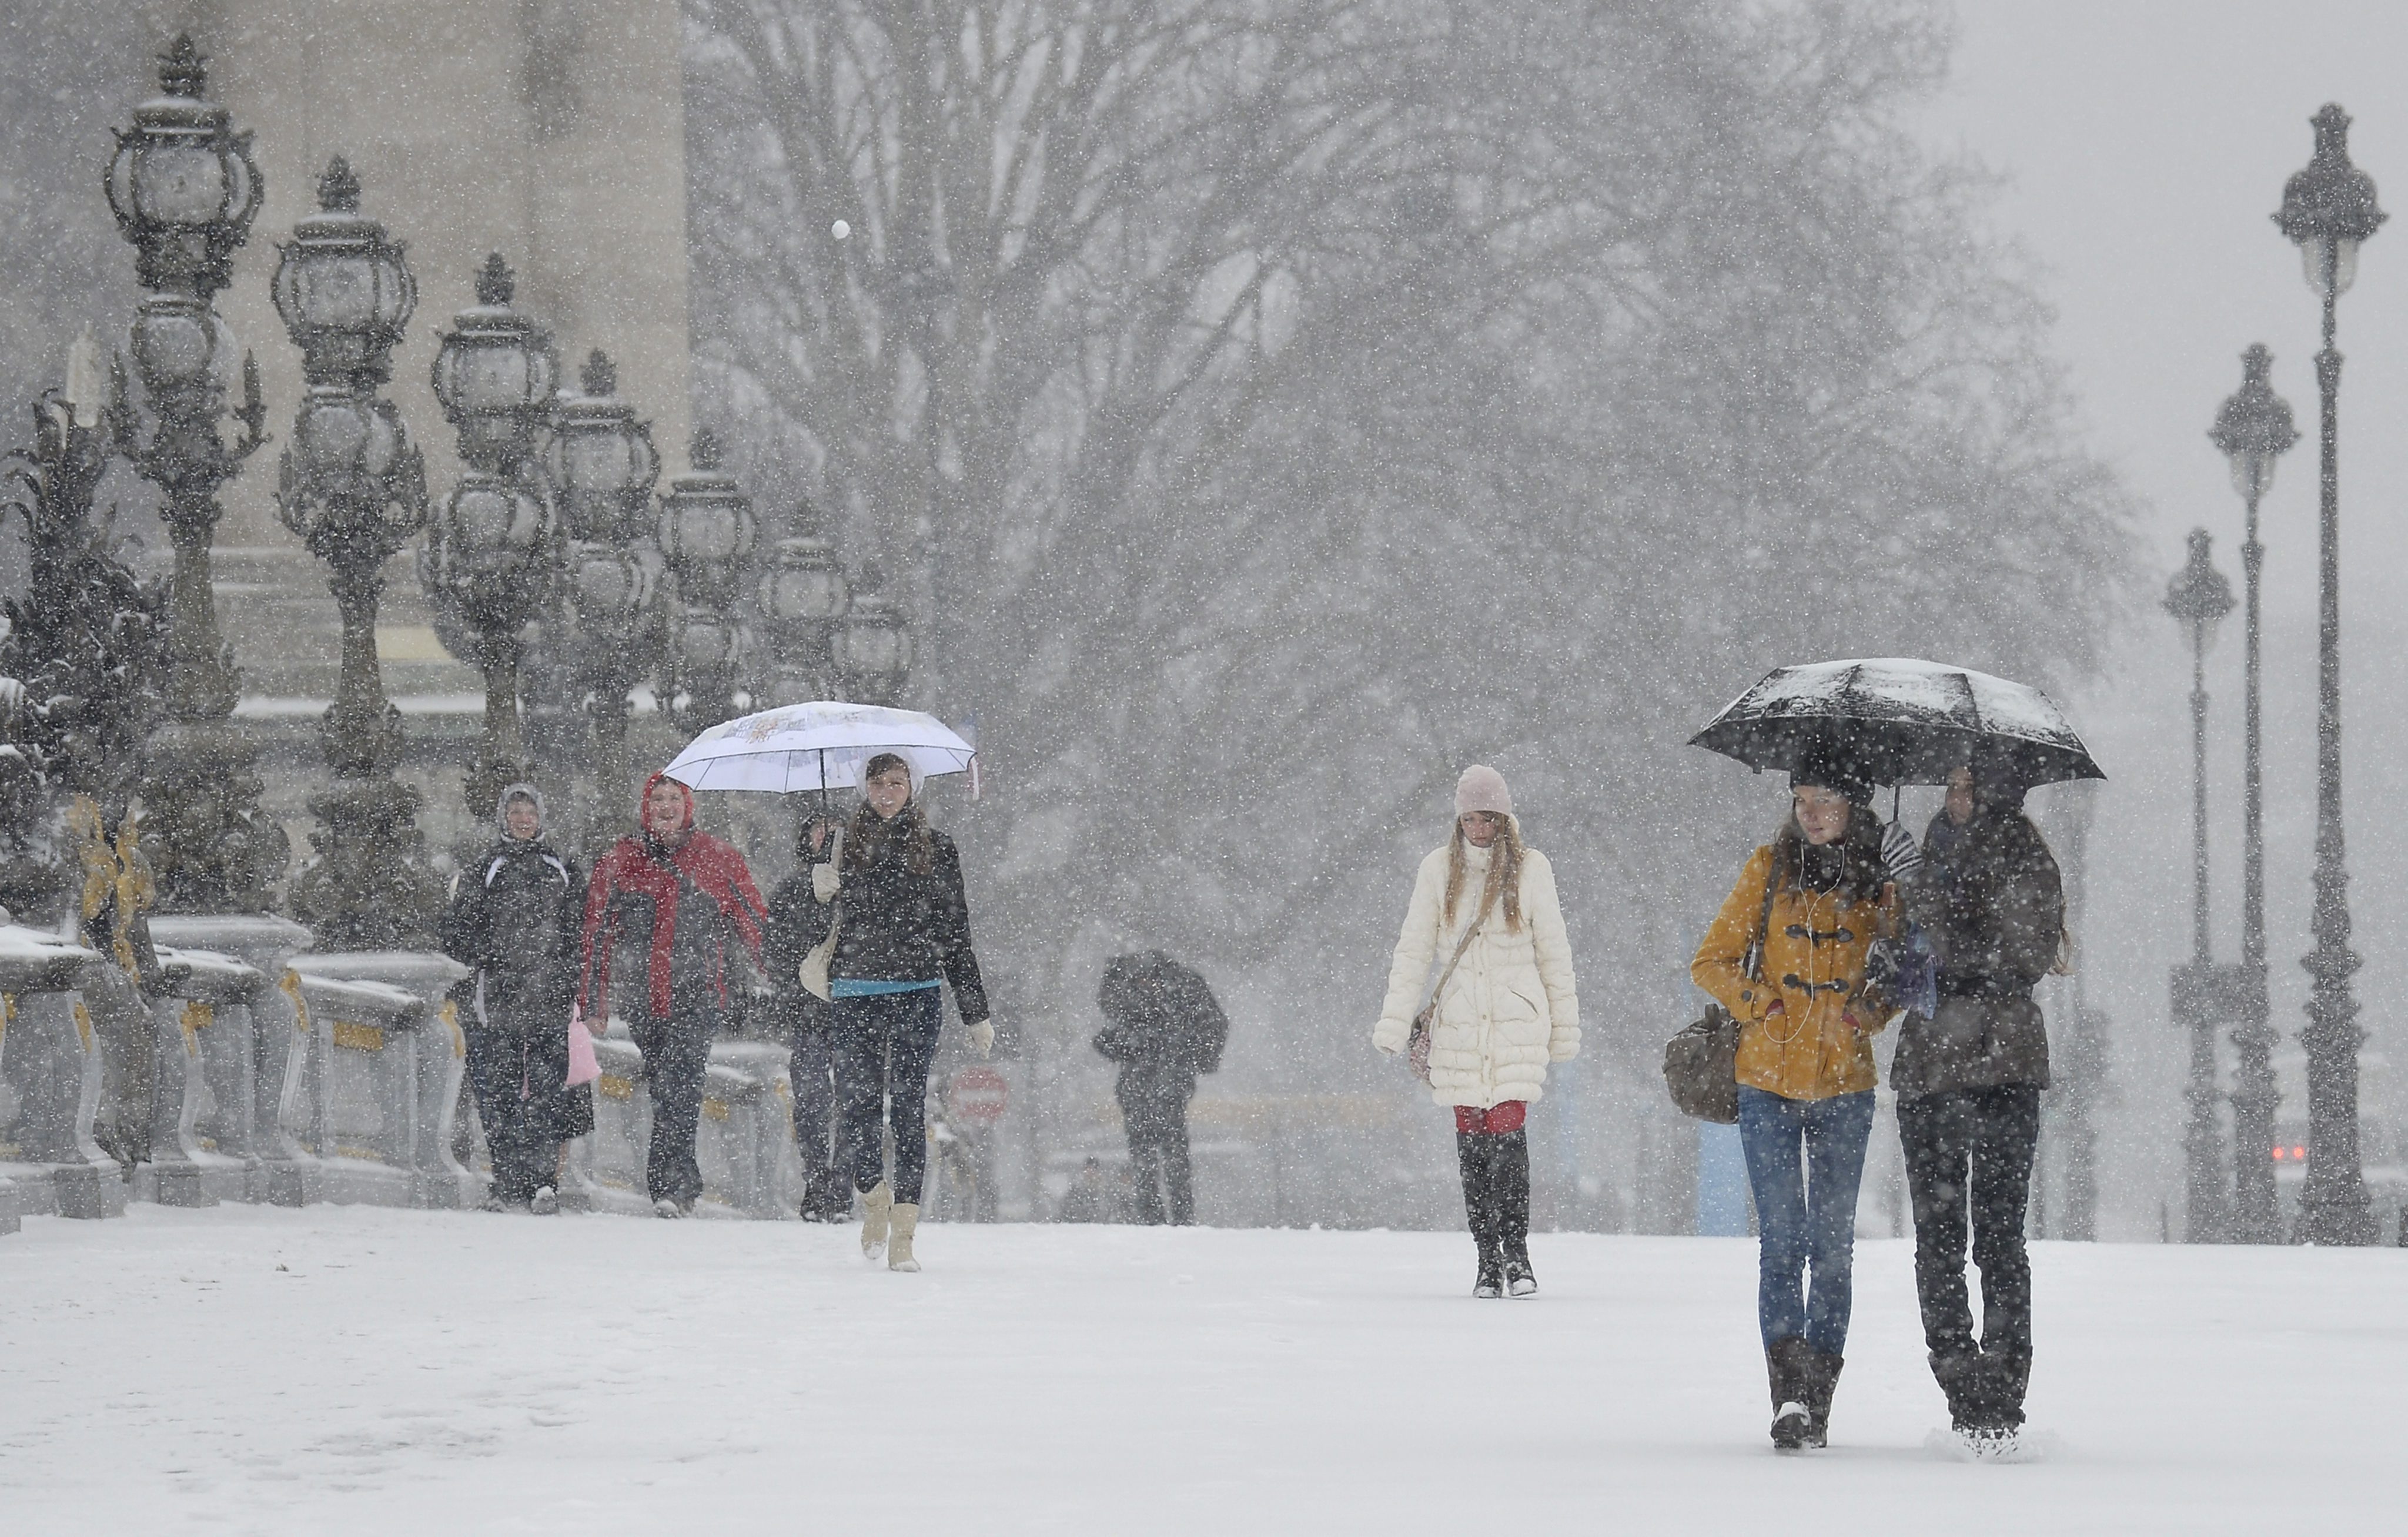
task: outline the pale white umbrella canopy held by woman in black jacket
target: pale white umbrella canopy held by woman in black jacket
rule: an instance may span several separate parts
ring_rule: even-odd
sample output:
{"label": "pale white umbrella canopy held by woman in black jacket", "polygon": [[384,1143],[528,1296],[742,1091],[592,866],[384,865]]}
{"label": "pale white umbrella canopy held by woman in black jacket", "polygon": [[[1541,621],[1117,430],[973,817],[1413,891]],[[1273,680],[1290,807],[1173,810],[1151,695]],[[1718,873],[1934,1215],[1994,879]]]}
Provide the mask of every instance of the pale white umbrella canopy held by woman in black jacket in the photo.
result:
{"label": "pale white umbrella canopy held by woman in black jacket", "polygon": [[915,785],[932,773],[961,773],[978,756],[961,732],[934,716],[814,701],[713,725],[662,773],[691,790],[843,790],[860,785],[862,764],[881,752],[910,764]]}

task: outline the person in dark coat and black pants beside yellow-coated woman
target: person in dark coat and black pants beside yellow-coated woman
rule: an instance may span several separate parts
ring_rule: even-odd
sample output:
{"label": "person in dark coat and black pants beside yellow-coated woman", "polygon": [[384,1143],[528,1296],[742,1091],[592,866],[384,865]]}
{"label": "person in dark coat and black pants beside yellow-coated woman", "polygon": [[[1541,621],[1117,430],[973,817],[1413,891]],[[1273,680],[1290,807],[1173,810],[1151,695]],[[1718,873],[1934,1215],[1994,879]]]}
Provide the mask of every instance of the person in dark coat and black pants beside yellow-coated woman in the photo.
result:
{"label": "person in dark coat and black pants beside yellow-coated woman", "polygon": [[[2023,1209],[2049,1086],[2032,985],[2056,966],[2066,899],[2056,858],[2023,814],[2013,752],[1977,752],[1948,778],[1907,911],[1938,956],[1938,1009],[1907,1014],[1890,1062],[1914,1205],[1914,1291],[1950,1424],[1977,1443],[2023,1426],[2032,1378],[2032,1262]],[[1982,1267],[1982,1335],[1965,1294],[1965,1238]]]}

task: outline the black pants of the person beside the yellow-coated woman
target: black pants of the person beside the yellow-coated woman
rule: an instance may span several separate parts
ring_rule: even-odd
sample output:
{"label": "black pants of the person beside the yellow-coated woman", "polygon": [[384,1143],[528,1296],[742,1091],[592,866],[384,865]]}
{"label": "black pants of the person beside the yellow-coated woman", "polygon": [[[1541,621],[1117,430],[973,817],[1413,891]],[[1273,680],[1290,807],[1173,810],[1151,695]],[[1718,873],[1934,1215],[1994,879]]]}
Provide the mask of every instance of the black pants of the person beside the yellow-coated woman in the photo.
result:
{"label": "black pants of the person beside the yellow-coated woman", "polygon": [[[1946,1089],[1898,1101],[1914,1200],[1914,1291],[1936,1371],[1975,1354],[2030,1361],[2032,1260],[2023,1207],[2040,1144],[2040,1089]],[[1982,1337],[1965,1296],[1965,1229],[1982,1267]],[[2020,1395],[2018,1395],[2020,1397]]]}

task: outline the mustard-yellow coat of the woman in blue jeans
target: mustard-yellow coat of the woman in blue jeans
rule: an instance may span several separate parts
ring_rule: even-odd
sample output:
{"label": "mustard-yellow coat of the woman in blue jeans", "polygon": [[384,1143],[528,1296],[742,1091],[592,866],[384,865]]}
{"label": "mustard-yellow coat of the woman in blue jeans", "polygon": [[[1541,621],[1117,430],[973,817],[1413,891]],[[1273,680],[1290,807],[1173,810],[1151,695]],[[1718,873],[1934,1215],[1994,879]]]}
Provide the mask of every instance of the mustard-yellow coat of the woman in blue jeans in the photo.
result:
{"label": "mustard-yellow coat of the woman in blue jeans", "polygon": [[[1705,930],[1688,976],[1739,1019],[1739,1082],[1782,1099],[1861,1094],[1878,1077],[1873,1036],[1890,1005],[1864,990],[1864,956],[1895,923],[1890,901],[1782,889],[1765,925],[1763,980],[1748,978],[1748,942],[1765,913],[1772,848],[1758,848]],[[1782,1012],[1770,1014],[1780,1000]]]}

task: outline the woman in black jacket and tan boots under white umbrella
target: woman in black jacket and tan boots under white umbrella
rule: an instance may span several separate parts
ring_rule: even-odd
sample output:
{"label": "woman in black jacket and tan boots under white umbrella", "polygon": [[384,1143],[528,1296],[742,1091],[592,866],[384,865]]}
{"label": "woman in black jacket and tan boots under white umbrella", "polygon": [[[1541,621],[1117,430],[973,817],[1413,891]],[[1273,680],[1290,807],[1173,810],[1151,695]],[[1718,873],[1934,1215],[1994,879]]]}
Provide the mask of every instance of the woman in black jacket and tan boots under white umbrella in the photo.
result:
{"label": "woman in black jacket and tan boots under white umbrella", "polygon": [[[970,901],[961,853],[920,805],[910,764],[881,752],[862,766],[862,805],[819,838],[811,896],[833,908],[828,1031],[836,1046],[836,1113],[843,1156],[862,1195],[862,1253],[889,1270],[920,1270],[920,1183],[927,1173],[927,1072],[944,1026],[942,985],[978,1055],[995,1050],[987,990],[970,949]],[[893,1178],[879,1106],[896,1137]]]}

